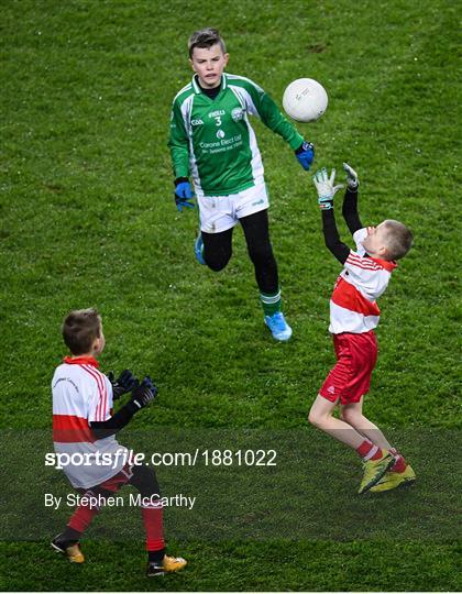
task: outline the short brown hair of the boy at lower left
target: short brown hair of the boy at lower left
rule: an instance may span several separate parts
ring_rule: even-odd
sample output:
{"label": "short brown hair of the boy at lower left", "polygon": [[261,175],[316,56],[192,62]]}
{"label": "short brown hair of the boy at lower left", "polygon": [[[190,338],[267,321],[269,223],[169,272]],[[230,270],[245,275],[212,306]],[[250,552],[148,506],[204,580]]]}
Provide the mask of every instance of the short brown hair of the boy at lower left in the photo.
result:
{"label": "short brown hair of the boy at lower left", "polygon": [[63,339],[74,355],[88,353],[100,336],[101,316],[92,307],[70,311],[63,322]]}

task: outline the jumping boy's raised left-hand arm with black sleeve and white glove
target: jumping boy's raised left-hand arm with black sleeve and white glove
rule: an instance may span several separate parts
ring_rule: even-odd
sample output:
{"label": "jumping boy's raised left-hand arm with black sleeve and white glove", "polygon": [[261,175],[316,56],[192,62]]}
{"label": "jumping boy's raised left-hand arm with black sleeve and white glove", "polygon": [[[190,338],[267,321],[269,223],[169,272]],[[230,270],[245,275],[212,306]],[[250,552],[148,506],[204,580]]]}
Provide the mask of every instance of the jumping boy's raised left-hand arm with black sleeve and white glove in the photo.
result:
{"label": "jumping boy's raised left-hand arm with black sleeve and white glove", "polygon": [[318,204],[322,212],[322,232],[324,234],[326,246],[341,264],[344,264],[350,254],[350,248],[340,240],[336,216],[333,213],[333,196],[343,186],[341,184],[334,186],[334,179],[336,169],[332,169],[330,178],[328,178],[326,167],[316,172],[314,177],[318,191]]}

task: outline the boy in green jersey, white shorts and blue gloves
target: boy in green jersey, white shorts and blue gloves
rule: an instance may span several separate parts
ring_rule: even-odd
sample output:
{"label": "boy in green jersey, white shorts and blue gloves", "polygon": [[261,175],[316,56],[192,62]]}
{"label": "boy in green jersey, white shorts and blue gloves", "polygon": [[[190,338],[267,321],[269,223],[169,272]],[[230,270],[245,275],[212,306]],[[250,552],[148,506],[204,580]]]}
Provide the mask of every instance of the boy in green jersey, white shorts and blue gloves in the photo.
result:
{"label": "boy in green jersey, white shorts and blue gloves", "polygon": [[292,328],[280,310],[277,264],[268,232],[268,196],[262,157],[249,116],[257,116],[295,151],[309,169],[315,147],[280,113],[265,91],[242,76],[224,74],[229,55],[216,29],[189,38],[191,82],[175,97],[168,146],[179,211],[199,206],[196,257],[221,271],[232,253],[232,230],[240,222],[255,268],[264,320],[276,340],[288,340]]}

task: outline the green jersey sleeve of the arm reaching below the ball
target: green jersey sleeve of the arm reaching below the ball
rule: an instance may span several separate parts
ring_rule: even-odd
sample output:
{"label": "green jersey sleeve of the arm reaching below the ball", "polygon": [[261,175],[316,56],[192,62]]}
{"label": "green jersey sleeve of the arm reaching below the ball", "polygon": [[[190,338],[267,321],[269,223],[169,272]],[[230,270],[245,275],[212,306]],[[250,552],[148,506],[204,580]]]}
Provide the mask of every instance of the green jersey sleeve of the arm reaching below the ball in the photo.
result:
{"label": "green jersey sleeve of the arm reaching below the ball", "polygon": [[270,128],[270,130],[273,130],[273,132],[279,134],[279,136],[288,142],[290,147],[296,151],[304,142],[304,138],[297,132],[294,125],[286,120],[286,118],[284,118],[279,111],[279,108],[276,106],[270,95],[250,80],[246,85],[246,90],[253,101],[253,106],[249,106],[250,112],[258,116],[262,122]]}

